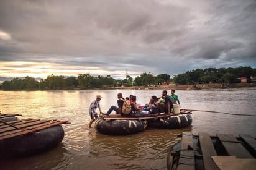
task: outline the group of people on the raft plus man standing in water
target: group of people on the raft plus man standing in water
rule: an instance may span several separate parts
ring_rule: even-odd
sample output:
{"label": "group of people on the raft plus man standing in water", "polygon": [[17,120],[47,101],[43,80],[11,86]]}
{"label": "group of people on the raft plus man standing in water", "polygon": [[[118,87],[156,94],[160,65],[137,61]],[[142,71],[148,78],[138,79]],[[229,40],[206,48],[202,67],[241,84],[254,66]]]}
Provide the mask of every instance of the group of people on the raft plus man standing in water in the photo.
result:
{"label": "group of people on the raft plus man standing in water", "polygon": [[[117,106],[111,106],[107,113],[103,113],[101,111],[101,107],[99,101],[101,100],[101,95],[96,96],[96,100],[93,100],[89,106],[89,115],[91,117],[91,121],[89,122],[89,128],[91,128],[91,124],[94,119],[98,117],[96,113],[96,109],[99,108],[100,114],[104,116],[109,116],[112,111],[116,111],[118,116],[132,116],[132,117],[153,117],[159,116],[160,113],[171,114],[171,109],[173,108],[173,104],[179,104],[178,95],[175,95],[175,90],[171,90],[171,95],[167,95],[167,90],[162,91],[162,96],[157,98],[157,96],[152,96],[150,98],[149,103],[146,103],[145,106],[139,106],[136,103],[136,96],[130,95],[129,98],[124,98],[122,93],[117,94]],[[125,107],[124,103],[129,101],[130,111],[129,113],[124,113],[123,107]]]}

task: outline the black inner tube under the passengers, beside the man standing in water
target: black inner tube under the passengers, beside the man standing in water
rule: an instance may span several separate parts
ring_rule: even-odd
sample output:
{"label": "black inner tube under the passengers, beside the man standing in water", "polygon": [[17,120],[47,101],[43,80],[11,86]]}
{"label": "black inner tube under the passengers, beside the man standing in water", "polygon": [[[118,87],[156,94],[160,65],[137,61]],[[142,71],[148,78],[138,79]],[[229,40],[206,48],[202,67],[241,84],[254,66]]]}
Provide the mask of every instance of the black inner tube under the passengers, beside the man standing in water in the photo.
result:
{"label": "black inner tube under the passengers, beside the man standing in water", "polygon": [[95,129],[106,135],[130,135],[136,134],[147,127],[147,121],[141,120],[108,120],[98,117],[94,121]]}

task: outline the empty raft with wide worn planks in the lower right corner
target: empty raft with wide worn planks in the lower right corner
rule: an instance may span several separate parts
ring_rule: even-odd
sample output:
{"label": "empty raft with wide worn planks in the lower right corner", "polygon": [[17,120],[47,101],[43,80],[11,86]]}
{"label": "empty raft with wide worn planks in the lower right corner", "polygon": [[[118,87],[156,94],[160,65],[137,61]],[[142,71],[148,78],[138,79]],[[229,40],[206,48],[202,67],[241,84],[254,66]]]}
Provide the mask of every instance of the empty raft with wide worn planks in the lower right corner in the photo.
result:
{"label": "empty raft with wide worn planks in the lower right corner", "polygon": [[183,132],[171,148],[168,169],[256,169],[256,139],[250,135]]}

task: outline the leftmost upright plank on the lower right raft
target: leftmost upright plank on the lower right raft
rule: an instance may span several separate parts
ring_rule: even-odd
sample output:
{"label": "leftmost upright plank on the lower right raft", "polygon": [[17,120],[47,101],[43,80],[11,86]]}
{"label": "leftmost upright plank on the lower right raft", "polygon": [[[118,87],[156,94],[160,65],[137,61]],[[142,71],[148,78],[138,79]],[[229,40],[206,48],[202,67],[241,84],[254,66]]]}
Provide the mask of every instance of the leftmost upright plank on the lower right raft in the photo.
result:
{"label": "leftmost upright plank on the lower right raft", "polygon": [[190,132],[182,133],[181,151],[177,169],[194,169],[193,135]]}

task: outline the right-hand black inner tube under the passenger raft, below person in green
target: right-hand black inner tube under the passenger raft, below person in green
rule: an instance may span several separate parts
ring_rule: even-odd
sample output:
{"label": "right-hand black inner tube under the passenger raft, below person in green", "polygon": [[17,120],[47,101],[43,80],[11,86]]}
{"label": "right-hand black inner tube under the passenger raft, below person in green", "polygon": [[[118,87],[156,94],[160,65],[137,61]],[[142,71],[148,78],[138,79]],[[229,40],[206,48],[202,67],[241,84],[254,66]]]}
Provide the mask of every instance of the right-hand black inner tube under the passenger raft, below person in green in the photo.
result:
{"label": "right-hand black inner tube under the passenger raft, below person in green", "polygon": [[149,119],[149,127],[157,127],[164,129],[178,129],[187,127],[192,123],[191,114],[178,114],[176,116],[162,117],[158,119]]}

